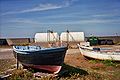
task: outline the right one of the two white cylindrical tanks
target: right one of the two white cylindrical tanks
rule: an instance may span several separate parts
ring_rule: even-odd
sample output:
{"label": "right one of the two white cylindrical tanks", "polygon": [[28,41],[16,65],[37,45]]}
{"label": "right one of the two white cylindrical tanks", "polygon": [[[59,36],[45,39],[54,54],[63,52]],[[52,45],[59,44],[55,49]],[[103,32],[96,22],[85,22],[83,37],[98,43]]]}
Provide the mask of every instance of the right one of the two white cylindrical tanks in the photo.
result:
{"label": "right one of the two white cylindrical tanks", "polygon": [[79,42],[84,39],[84,32],[62,32],[60,35],[61,41]]}

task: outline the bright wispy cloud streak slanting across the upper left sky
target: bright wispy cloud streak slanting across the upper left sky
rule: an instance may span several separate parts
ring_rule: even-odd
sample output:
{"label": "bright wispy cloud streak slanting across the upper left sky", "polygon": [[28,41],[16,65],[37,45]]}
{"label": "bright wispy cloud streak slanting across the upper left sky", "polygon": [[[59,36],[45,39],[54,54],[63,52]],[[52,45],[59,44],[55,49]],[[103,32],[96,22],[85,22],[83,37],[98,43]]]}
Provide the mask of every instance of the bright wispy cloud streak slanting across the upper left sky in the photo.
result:
{"label": "bright wispy cloud streak slanting across the upper left sky", "polygon": [[29,12],[38,12],[38,11],[47,11],[47,10],[53,10],[53,9],[59,9],[59,8],[64,8],[70,6],[74,1],[76,0],[65,0],[63,4],[39,4],[36,7],[33,8],[28,8],[24,10],[19,10],[19,11],[10,11],[10,12],[5,12],[2,15],[8,15],[8,14],[18,14],[18,13],[29,13]]}

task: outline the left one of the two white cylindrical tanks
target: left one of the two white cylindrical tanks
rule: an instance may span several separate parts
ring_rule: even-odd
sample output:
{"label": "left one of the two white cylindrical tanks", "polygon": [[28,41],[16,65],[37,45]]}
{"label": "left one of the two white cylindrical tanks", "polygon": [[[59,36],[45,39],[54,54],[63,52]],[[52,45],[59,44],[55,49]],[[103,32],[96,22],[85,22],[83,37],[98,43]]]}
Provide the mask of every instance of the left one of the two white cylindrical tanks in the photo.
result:
{"label": "left one of the two white cylindrical tanks", "polygon": [[36,33],[35,42],[54,42],[59,40],[58,33]]}

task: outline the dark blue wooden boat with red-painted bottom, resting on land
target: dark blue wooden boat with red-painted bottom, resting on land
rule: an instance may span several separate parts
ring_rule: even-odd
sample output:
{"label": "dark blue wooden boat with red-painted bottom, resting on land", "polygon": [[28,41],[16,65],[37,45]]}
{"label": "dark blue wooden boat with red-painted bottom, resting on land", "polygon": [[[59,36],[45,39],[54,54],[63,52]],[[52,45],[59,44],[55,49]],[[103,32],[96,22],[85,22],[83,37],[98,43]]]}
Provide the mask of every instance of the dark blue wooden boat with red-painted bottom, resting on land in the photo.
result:
{"label": "dark blue wooden boat with red-painted bottom, resting on land", "polygon": [[65,46],[51,48],[13,46],[13,53],[23,66],[58,73],[64,62],[67,49]]}

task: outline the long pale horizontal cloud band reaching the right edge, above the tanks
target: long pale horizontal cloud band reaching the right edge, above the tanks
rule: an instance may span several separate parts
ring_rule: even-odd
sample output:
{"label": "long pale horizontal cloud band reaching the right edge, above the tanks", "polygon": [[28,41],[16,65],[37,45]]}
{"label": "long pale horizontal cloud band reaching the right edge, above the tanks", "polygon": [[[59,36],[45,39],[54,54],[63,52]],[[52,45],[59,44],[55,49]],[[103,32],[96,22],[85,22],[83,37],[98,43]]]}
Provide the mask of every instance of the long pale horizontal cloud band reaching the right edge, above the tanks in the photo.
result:
{"label": "long pale horizontal cloud band reaching the right edge, above the tanks", "polygon": [[48,19],[47,22],[42,20],[16,18],[12,20],[6,20],[7,23],[21,23],[21,24],[120,24],[120,19],[84,19],[84,20],[63,20],[56,21]]}

